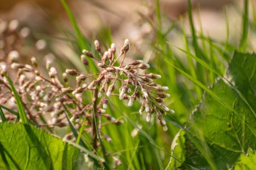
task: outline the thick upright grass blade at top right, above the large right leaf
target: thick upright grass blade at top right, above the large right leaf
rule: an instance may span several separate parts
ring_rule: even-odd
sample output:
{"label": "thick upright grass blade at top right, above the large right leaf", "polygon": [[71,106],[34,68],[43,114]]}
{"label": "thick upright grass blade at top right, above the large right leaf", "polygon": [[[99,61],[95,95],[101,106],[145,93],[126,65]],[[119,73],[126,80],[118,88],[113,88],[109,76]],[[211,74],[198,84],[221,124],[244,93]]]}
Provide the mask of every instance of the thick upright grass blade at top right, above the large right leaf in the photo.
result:
{"label": "thick upright grass blade at top right, above the large right leaf", "polygon": [[241,42],[239,46],[242,52],[244,52],[247,47],[248,30],[249,30],[248,0],[245,0],[244,11],[243,11],[243,32],[242,32]]}

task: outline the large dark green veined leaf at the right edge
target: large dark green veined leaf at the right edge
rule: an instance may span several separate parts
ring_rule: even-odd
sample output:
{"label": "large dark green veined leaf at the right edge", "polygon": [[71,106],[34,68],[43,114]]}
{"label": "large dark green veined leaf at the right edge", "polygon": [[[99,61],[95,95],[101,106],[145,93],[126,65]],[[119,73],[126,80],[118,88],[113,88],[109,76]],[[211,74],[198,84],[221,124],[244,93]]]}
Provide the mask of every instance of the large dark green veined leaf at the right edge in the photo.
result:
{"label": "large dark green veined leaf at the right edge", "polygon": [[[187,124],[187,130],[203,146],[216,169],[233,167],[249,148],[256,149],[255,71],[255,54],[235,53],[227,72],[234,86],[220,80],[211,88],[225,104],[205,93]],[[212,168],[189,139],[186,148],[185,163],[203,169]]]}

